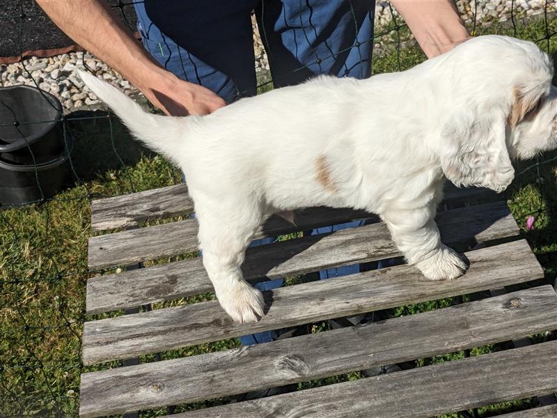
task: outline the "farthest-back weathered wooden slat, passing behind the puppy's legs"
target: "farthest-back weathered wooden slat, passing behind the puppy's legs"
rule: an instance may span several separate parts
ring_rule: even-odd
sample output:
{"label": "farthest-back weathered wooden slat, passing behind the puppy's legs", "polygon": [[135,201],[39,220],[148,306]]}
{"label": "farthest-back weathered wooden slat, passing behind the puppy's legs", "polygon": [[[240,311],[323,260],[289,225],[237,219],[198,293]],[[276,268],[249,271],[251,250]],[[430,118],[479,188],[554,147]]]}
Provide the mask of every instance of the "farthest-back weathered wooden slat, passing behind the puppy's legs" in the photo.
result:
{"label": "farthest-back weathered wooden slat, passing behind the puppy's legs", "polygon": [[[447,182],[444,201],[486,201],[492,196],[496,194],[488,189],[457,189],[452,183]],[[155,219],[189,214],[193,210],[194,203],[187,194],[185,184],[162,187],[91,202],[91,229],[102,231],[135,226]]]}

